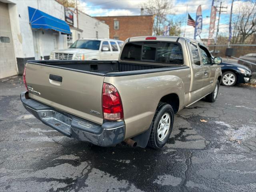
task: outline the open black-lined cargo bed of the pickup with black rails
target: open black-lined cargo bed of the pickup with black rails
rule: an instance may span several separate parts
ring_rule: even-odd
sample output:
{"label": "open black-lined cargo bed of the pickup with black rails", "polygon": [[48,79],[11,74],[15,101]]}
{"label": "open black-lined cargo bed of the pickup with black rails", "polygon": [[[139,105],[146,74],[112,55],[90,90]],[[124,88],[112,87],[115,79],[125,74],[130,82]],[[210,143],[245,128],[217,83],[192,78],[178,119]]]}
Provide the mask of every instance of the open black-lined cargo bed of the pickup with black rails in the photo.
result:
{"label": "open black-lined cargo bed of the pickup with black rails", "polygon": [[[154,66],[154,65],[145,65],[145,64],[131,64],[124,63],[118,61],[99,61],[99,60],[91,60],[91,61],[70,61],[70,60],[44,60],[44,61],[28,61],[30,64],[38,64],[43,66],[50,66],[55,68],[62,68],[67,70],[73,70],[78,72],[84,72],[89,74],[95,74],[100,76],[125,76],[137,74],[136,72],[131,73],[131,71],[140,70],[140,74],[149,73],[149,72],[158,72],[157,69],[162,69],[160,71],[173,70],[178,68],[183,68],[182,66]],[[165,68],[165,69],[163,69]],[[156,69],[150,70],[148,69]],[[141,71],[147,70],[147,71]],[[128,72],[128,73],[117,73],[117,72]],[[139,74],[139,73],[138,73]]]}

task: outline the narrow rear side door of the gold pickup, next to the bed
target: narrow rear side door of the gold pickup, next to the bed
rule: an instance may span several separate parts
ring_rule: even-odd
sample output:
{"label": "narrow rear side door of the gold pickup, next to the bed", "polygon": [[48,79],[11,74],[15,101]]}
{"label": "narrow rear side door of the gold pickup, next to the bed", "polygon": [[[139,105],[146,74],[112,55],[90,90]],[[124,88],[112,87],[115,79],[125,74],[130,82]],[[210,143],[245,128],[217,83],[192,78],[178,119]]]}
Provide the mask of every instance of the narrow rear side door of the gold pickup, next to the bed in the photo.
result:
{"label": "narrow rear side door of the gold pickup, next to the bed", "polygon": [[196,42],[188,42],[191,55],[191,84],[190,84],[190,102],[195,102],[202,97],[204,68],[201,64],[199,48]]}

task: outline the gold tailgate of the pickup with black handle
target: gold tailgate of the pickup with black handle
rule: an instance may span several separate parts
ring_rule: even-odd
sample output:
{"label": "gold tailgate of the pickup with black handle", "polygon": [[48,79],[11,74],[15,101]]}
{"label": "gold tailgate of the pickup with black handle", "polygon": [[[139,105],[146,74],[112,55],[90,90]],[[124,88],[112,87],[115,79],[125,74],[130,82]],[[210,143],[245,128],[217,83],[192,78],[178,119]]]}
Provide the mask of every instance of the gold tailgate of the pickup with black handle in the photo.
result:
{"label": "gold tailgate of the pickup with black handle", "polygon": [[102,124],[104,76],[28,63],[29,97],[80,118]]}

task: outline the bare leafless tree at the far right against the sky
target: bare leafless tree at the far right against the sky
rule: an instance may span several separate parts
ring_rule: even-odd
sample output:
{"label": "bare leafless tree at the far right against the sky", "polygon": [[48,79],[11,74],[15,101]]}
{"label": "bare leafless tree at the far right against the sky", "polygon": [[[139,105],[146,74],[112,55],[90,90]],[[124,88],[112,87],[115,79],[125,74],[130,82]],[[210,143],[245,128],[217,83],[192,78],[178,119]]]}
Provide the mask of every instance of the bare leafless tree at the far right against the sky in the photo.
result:
{"label": "bare leafless tree at the far right against the sky", "polygon": [[248,37],[256,33],[256,1],[244,2],[238,7],[238,13],[232,19],[233,44],[243,44]]}

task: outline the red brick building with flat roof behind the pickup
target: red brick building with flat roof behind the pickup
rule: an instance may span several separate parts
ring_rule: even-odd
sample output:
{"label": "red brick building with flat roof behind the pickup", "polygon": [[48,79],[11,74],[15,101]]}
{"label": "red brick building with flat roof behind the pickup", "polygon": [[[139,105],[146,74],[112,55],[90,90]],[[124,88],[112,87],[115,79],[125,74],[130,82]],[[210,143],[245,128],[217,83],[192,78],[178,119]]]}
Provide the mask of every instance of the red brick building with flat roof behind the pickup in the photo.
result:
{"label": "red brick building with flat roof behind the pickup", "polygon": [[151,36],[154,16],[103,16],[95,17],[109,26],[112,39],[126,40],[135,36]]}

